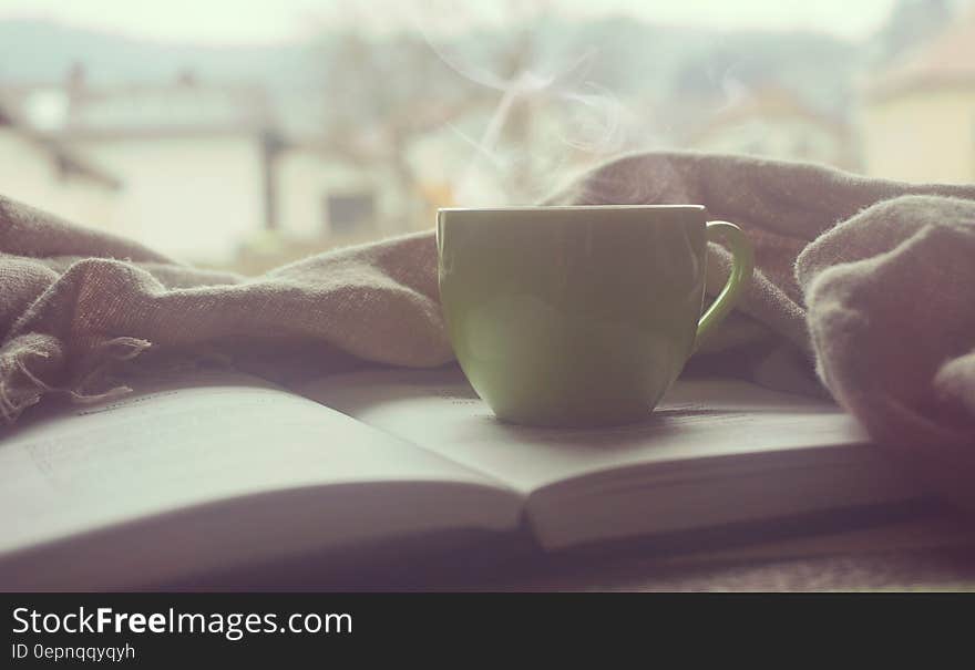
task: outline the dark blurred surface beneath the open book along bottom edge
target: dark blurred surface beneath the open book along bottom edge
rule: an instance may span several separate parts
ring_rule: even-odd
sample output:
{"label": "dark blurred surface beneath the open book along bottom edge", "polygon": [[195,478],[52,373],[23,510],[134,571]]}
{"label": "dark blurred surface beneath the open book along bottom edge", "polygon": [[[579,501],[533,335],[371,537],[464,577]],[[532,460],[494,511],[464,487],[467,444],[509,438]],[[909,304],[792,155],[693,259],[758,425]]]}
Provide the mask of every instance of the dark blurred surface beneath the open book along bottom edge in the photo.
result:
{"label": "dark blurred surface beneath the open book along bottom edge", "polygon": [[[975,522],[940,505],[546,554],[530,538],[373,547],[162,588],[205,590],[975,590]],[[516,544],[516,543],[515,543]]]}

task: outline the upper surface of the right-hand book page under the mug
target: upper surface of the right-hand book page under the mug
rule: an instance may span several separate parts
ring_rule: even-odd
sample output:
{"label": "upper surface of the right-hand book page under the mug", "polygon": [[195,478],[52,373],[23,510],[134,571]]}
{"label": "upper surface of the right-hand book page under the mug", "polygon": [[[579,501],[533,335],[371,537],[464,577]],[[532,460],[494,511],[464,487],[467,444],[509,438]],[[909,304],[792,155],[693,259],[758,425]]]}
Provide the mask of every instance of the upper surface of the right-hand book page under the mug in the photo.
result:
{"label": "upper surface of the right-hand book page under the mug", "polygon": [[[737,380],[680,380],[646,421],[594,430],[503,423],[456,368],[359,372],[299,390],[524,493],[647,465],[658,478],[668,472],[718,476],[747,453],[768,454],[769,466],[791,453],[786,460],[794,466],[798,452],[810,447],[869,443],[856,421],[829,401]],[[838,458],[850,456],[835,450]]]}

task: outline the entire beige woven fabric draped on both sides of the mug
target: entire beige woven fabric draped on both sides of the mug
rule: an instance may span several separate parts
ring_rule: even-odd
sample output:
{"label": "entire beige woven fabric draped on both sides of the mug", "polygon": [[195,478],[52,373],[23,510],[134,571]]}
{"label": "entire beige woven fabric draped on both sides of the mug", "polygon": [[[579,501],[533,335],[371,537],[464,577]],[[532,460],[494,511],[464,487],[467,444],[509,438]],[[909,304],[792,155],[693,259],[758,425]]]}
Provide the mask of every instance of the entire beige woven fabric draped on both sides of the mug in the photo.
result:
{"label": "entire beige woven fabric draped on both sides of the mug", "polygon": [[[738,328],[729,323],[711,350],[758,344],[750,360],[769,381],[778,362],[804,357],[879,442],[975,501],[975,186],[654,153],[583,175],[548,202],[699,203],[741,225],[759,272]],[[715,293],[728,255],[712,246],[710,261]],[[47,393],[124,392],[106,375],[135,357],[208,353],[284,380],[355,360],[421,367],[452,358],[430,233],[243,278],[3,199],[0,337],[8,421]],[[791,378],[797,388],[800,377]]]}

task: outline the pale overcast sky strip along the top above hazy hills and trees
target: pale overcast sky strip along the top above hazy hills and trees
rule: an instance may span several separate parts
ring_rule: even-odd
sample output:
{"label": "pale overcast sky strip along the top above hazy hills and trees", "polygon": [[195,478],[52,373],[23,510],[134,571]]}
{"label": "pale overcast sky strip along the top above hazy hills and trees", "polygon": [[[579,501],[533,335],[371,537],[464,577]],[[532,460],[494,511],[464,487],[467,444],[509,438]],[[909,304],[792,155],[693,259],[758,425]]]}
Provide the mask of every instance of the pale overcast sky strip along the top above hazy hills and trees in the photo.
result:
{"label": "pale overcast sky strip along the top above hazy hills and trees", "polygon": [[[520,0],[512,6],[546,3]],[[628,13],[663,24],[721,29],[817,29],[859,38],[875,30],[893,0],[550,0],[551,11]],[[306,35],[339,17],[373,27],[494,23],[509,0],[0,0],[0,20],[48,18],[136,38],[199,42],[278,42]],[[598,9],[595,9],[598,7]],[[454,19],[460,17],[461,19]],[[450,23],[448,23],[448,21]]]}

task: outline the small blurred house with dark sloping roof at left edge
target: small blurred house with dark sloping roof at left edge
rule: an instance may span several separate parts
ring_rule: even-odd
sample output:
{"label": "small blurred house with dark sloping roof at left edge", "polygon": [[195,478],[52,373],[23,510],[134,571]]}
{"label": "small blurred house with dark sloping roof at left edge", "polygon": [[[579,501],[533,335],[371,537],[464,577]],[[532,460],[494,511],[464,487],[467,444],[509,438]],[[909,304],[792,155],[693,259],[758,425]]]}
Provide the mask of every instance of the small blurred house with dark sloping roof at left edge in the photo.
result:
{"label": "small blurred house with dark sloping roof at left edge", "polygon": [[0,107],[0,184],[3,195],[65,218],[112,229],[121,183]]}

